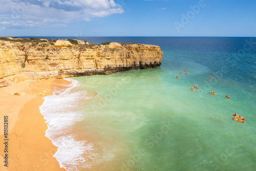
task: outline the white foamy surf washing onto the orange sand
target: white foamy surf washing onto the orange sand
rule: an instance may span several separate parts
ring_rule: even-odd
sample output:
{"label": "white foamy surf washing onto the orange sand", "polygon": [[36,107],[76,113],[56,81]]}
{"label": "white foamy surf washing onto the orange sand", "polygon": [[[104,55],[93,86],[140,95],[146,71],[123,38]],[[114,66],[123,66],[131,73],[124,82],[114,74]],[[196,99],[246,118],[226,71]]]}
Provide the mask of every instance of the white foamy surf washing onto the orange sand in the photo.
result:
{"label": "white foamy surf washing onto the orange sand", "polygon": [[90,162],[97,155],[93,153],[93,144],[86,140],[76,140],[76,135],[70,131],[75,122],[83,119],[84,116],[79,109],[84,100],[91,97],[88,97],[86,91],[81,90],[77,85],[78,81],[67,80],[71,81],[73,86],[64,92],[53,90],[54,95],[44,97],[45,101],[39,108],[48,123],[46,136],[58,147],[54,157],[60,163],[60,167],[67,170],[90,168]]}

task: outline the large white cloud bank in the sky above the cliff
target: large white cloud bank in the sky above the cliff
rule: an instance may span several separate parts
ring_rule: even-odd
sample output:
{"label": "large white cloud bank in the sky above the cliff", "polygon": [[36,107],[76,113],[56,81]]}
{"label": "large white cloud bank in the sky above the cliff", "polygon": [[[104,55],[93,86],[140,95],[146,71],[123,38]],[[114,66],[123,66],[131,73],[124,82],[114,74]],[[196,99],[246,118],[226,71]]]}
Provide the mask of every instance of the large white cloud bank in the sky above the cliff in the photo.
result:
{"label": "large white cloud bank in the sky above the cliff", "polygon": [[66,27],[70,22],[90,22],[92,17],[124,12],[114,0],[2,0],[0,11],[0,28],[4,29],[17,26]]}

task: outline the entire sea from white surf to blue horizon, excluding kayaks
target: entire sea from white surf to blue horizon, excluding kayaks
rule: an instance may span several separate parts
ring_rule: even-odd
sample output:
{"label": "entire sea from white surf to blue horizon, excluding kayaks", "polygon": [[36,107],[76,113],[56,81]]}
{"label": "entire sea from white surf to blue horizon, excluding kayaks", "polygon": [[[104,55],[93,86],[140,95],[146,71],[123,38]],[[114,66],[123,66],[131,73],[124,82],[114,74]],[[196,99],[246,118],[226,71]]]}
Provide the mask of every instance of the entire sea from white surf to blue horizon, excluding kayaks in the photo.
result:
{"label": "entire sea from white surf to blue horizon, excluding kayaks", "polygon": [[62,167],[255,170],[256,38],[80,39],[154,44],[163,59],[155,69],[73,77],[74,87],[45,98],[40,110]]}

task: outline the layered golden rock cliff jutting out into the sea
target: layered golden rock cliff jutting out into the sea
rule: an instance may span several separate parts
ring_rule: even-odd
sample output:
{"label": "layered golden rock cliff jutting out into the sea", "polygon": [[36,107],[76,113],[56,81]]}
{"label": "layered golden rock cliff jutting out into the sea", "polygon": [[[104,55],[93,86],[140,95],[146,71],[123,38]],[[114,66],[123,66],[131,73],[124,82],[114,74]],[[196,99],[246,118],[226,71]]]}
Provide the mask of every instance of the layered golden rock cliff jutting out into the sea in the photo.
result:
{"label": "layered golden rock cliff jutting out into the sea", "polygon": [[160,47],[154,45],[41,40],[0,40],[0,87],[32,79],[155,68],[161,65],[163,55]]}

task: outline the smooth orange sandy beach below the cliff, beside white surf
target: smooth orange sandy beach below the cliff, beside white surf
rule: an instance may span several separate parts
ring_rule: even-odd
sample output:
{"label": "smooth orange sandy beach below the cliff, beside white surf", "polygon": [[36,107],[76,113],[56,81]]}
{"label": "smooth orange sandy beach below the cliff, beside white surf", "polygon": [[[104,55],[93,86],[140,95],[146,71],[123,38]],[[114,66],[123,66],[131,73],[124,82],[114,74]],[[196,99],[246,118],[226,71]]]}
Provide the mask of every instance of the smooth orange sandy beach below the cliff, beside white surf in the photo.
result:
{"label": "smooth orange sandy beach below the cliff, beside white surf", "polygon": [[[68,88],[59,84],[69,85],[70,82],[47,79],[0,88],[1,125],[4,116],[8,116],[8,153],[4,153],[5,146],[1,142],[1,155],[8,154],[8,167],[2,162],[0,170],[65,170],[53,157],[57,147],[45,136],[47,123],[39,111],[44,102],[42,97],[52,95],[52,90]],[[2,141],[6,139],[4,126],[0,128],[0,137]]]}

